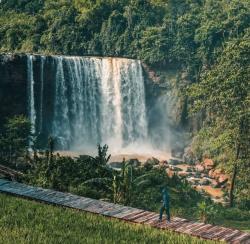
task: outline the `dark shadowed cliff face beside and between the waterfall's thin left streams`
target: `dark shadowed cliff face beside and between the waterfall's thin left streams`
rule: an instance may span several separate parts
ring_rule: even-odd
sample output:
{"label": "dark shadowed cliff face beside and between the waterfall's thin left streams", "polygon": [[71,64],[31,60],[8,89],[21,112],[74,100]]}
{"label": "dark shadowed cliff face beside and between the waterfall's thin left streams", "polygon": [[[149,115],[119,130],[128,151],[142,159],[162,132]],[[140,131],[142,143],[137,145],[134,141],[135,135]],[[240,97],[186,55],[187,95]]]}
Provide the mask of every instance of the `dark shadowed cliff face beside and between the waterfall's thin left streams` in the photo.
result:
{"label": "dark shadowed cliff face beside and between the waterfall's thin left streams", "polygon": [[[28,108],[28,60],[26,54],[1,54],[0,55],[0,128],[4,124],[4,121],[8,117],[14,115],[23,114],[25,116],[29,115]],[[41,76],[40,76],[40,63],[41,56],[34,55],[33,70],[34,79],[37,81],[34,84],[34,97],[35,100],[39,100],[39,91],[41,89]],[[44,94],[47,98],[44,104],[44,117],[49,121],[52,116],[52,106],[53,103],[53,75],[52,75],[53,65],[48,57],[47,62],[44,64],[44,69],[46,72],[45,82],[44,82]],[[35,103],[36,110],[39,111],[39,102]],[[40,126],[37,124],[37,126]],[[46,127],[50,127],[48,123]],[[48,131],[49,128],[44,128]]]}

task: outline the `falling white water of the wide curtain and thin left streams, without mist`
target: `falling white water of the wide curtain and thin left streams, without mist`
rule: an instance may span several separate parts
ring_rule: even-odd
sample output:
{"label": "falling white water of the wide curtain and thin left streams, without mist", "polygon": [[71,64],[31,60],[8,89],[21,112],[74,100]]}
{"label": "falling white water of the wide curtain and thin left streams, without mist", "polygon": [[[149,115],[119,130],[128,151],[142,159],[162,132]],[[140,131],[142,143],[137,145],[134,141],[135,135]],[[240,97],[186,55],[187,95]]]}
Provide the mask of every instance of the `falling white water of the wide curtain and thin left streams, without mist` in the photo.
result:
{"label": "falling white water of the wide curtain and thin left streams, without mist", "polygon": [[[145,142],[148,125],[139,60],[51,56],[47,61],[47,58],[40,58],[40,132],[45,123],[43,110],[46,112],[49,99],[44,89],[49,83],[47,77],[53,76],[49,133],[57,138],[61,149],[96,147],[100,143],[120,150],[133,143]],[[32,60],[33,56],[28,56],[29,115],[35,125]],[[45,68],[48,63],[52,71]]]}

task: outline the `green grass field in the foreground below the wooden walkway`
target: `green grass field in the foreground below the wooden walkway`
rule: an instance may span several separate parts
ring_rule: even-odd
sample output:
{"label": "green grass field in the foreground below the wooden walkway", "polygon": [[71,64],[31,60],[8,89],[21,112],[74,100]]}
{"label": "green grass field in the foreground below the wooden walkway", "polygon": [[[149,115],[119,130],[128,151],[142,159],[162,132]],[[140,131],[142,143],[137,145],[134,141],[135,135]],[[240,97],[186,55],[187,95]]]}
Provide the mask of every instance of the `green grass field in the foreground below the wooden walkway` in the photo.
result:
{"label": "green grass field in the foreground below the wooden walkway", "polygon": [[0,243],[216,243],[0,194]]}

